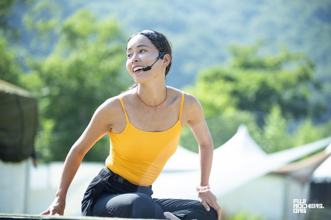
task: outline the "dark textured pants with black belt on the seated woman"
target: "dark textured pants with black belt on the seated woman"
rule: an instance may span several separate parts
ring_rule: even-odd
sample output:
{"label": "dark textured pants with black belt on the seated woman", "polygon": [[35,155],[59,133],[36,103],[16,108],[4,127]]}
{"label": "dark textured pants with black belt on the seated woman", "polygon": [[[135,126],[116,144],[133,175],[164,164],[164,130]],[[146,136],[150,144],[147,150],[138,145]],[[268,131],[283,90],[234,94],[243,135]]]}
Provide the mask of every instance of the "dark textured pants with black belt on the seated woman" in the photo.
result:
{"label": "dark textured pants with black belt on the seated woman", "polygon": [[152,198],[152,185],[127,186],[112,174],[104,167],[91,181],[82,200],[83,216],[167,219],[164,212],[171,212],[179,219],[217,219],[216,210],[207,211],[198,200]]}

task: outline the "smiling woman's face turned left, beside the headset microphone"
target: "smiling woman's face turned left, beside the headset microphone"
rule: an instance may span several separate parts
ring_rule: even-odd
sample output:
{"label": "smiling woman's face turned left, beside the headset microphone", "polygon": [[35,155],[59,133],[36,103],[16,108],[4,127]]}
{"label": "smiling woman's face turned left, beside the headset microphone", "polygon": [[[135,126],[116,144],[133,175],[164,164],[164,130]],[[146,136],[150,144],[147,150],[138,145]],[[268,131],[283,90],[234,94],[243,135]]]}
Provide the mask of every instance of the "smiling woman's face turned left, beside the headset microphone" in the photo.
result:
{"label": "smiling woman's face turned left, beside the headset microphone", "polygon": [[[164,61],[159,59],[151,70],[143,71],[136,70],[136,66],[150,66],[159,57],[160,51],[158,48],[143,34],[137,34],[132,37],[127,44],[126,51],[126,68],[130,75],[137,83],[145,82],[154,76],[164,73]],[[164,77],[164,75],[163,75]]]}

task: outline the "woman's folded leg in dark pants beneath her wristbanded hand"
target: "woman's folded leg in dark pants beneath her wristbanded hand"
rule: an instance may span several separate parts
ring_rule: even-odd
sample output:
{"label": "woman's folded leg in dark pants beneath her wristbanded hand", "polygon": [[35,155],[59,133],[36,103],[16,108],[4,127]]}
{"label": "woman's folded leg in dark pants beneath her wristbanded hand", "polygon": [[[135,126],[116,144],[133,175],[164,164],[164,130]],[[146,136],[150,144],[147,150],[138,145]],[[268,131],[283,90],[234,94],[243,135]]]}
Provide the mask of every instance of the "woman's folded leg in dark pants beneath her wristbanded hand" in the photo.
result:
{"label": "woman's folded leg in dark pants beneath her wristbanded hand", "polygon": [[207,211],[198,200],[156,199],[164,212],[171,212],[180,219],[217,220],[217,211],[211,207]]}

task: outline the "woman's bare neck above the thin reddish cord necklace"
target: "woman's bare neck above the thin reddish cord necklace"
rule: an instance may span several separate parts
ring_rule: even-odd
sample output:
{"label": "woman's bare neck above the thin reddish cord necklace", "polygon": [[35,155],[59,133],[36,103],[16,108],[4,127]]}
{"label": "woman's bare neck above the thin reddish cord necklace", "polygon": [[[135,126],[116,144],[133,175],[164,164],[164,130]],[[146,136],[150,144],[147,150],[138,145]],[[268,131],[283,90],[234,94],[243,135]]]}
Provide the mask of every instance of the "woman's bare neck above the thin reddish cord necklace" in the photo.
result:
{"label": "woman's bare neck above the thin reddish cord necklace", "polygon": [[162,103],[166,97],[165,83],[162,82],[153,85],[138,84],[138,94],[140,99],[143,102],[145,102],[147,105],[151,105],[151,106],[158,105]]}

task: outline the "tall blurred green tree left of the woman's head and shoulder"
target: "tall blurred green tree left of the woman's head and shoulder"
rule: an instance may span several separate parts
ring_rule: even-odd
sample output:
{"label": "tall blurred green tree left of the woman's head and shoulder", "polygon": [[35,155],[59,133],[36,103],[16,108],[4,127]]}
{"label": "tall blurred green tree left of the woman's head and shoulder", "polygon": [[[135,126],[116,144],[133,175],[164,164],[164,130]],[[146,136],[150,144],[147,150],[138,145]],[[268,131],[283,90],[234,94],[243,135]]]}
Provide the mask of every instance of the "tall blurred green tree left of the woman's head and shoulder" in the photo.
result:
{"label": "tall blurred green tree left of the woman's head and shoulder", "polygon": [[[39,100],[36,152],[42,161],[65,160],[97,107],[125,90],[124,82],[129,80],[122,67],[125,40],[113,19],[97,22],[81,10],[57,25],[60,40],[54,51],[43,60],[28,60],[31,71],[22,76]],[[107,154],[109,137],[105,136],[84,160],[104,161]]]}

